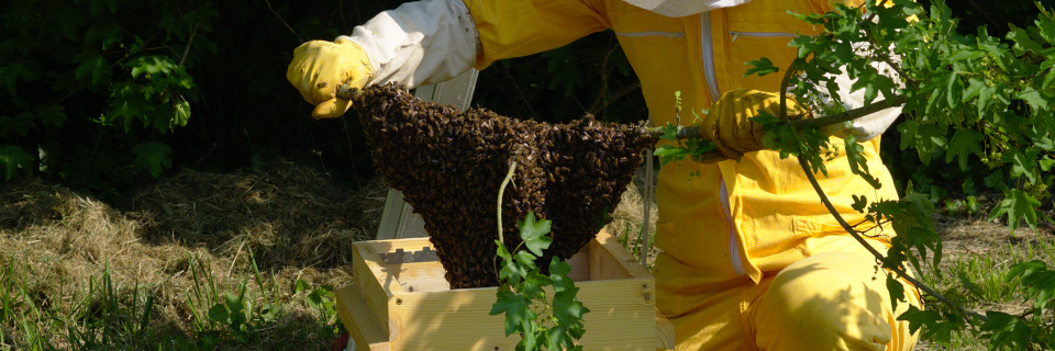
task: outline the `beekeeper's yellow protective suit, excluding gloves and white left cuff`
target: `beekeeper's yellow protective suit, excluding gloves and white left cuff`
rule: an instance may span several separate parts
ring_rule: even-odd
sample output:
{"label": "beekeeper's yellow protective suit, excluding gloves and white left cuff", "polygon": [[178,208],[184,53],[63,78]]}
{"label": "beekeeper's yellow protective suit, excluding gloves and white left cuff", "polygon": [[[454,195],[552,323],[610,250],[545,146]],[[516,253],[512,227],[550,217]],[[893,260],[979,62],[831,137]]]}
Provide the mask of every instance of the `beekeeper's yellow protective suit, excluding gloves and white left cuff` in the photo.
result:
{"label": "beekeeper's yellow protective suit, excluding gloves and white left cuff", "polygon": [[[796,54],[789,39],[820,31],[787,12],[831,9],[823,0],[753,0],[666,18],[619,0],[465,3],[479,32],[480,69],[613,30],[657,125],[675,122],[675,91],[687,110],[710,107],[736,88],[778,91],[780,75],[744,77],[744,63],[768,57],[787,67]],[[818,174],[849,223],[864,220],[851,207],[852,195],[898,196],[879,159],[879,138],[864,149],[882,183],[878,191],[853,176],[845,156],[828,165],[826,178]],[[915,343],[907,324],[895,319],[884,273],[839,227],[796,160],[764,150],[738,162],[670,163],[660,170],[656,199],[657,306],[675,324],[679,350],[910,350]],[[881,240],[873,246],[886,248]],[[919,305],[919,296],[909,295]]]}

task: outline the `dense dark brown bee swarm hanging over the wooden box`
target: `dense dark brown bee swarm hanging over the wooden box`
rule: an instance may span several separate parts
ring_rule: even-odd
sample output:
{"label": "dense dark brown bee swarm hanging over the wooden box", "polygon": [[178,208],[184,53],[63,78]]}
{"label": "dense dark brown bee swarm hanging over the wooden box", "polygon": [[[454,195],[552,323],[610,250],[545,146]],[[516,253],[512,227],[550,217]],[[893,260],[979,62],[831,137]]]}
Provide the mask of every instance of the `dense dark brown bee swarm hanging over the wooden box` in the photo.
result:
{"label": "dense dark brown bee swarm hanging over the wooden box", "polygon": [[356,94],[374,162],[425,223],[452,288],[497,286],[499,186],[506,246],[521,242],[529,211],[552,222],[553,244],[538,259],[568,259],[608,224],[609,214],[655,140],[642,125],[592,116],[546,124],[491,111],[421,101],[396,84]]}

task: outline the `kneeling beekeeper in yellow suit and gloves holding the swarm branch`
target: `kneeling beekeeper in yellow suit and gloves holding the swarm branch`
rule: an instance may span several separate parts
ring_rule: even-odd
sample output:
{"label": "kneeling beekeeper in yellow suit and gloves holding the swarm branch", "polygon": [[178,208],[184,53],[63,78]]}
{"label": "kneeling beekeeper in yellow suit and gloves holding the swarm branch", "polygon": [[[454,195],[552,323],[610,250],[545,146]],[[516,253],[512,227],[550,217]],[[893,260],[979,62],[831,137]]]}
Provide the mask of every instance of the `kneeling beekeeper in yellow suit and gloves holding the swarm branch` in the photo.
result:
{"label": "kneeling beekeeper in yellow suit and gloves holding the swarm branch", "polygon": [[[612,30],[656,125],[675,122],[680,91],[685,109],[717,103],[704,134],[725,132],[714,140],[725,158],[669,163],[659,173],[657,307],[675,325],[677,349],[911,350],[915,336],[896,319],[908,304],[891,309],[884,272],[835,223],[798,162],[743,143],[751,136],[744,121],[757,109],[776,114],[780,84],[780,75],[744,77],[744,63],[768,57],[788,67],[790,38],[820,31],[788,11],[830,9],[828,0],[408,2],[335,42],[301,45],[287,77],[315,104],[314,117],[337,117],[349,107],[334,98],[342,83],[430,84]],[[863,91],[851,93],[845,75],[837,81],[842,102],[860,106]],[[849,223],[865,220],[852,195],[898,197],[879,159],[879,134],[899,113],[880,111],[832,133],[863,140],[868,169],[882,183],[874,190],[855,177],[844,155],[826,165],[821,186]],[[881,239],[869,241],[885,252]],[[907,292],[919,306],[915,290]]]}

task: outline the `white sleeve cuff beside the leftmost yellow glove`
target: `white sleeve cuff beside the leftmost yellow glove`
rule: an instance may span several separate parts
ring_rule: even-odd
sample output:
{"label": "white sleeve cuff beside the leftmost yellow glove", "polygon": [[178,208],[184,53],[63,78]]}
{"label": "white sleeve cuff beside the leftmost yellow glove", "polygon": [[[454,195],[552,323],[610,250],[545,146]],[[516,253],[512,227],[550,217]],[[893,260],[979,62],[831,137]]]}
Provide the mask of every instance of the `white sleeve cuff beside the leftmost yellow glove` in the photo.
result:
{"label": "white sleeve cuff beside the leftmost yellow glove", "polygon": [[356,26],[351,36],[374,68],[370,84],[442,82],[473,68],[479,34],[462,0],[407,2]]}

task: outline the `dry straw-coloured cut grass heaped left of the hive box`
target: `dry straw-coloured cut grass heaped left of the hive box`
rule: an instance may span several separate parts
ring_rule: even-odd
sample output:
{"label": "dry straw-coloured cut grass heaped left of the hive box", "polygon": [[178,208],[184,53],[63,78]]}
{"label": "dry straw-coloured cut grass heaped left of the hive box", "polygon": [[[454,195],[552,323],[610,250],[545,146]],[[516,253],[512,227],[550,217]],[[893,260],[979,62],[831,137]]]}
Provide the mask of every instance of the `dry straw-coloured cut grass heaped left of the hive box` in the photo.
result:
{"label": "dry straw-coloured cut grass heaped left of the hive box", "polygon": [[[121,298],[132,303],[143,298],[135,292],[153,295],[154,329],[189,336],[191,273],[236,291],[253,281],[251,251],[265,290],[281,293],[271,296],[279,301],[295,297],[298,280],[312,286],[348,283],[344,268],[351,244],[376,230],[384,188],[375,183],[351,191],[331,184],[323,174],[289,162],[234,174],[185,170],[137,192],[126,208],[114,208],[36,180],[9,183],[0,192],[0,267],[5,269],[0,274],[22,281],[40,310],[80,316],[98,304],[88,292],[109,270]],[[195,263],[203,270],[192,271]],[[248,294],[267,295],[274,293]],[[295,304],[278,324],[313,318],[304,309]],[[10,325],[3,328],[11,340]],[[53,346],[66,342],[59,335],[51,339]]]}

